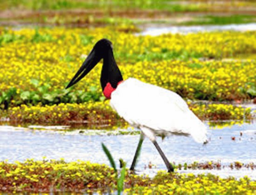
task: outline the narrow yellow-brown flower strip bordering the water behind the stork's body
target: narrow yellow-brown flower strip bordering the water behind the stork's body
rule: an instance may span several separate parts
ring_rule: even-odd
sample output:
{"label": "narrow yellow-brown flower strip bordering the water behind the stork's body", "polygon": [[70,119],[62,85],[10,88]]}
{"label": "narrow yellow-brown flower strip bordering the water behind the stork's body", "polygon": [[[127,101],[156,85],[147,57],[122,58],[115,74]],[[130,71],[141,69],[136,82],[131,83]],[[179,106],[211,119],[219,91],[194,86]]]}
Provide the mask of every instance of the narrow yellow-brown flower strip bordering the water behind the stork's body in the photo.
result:
{"label": "narrow yellow-brown flower strip bordering the water behind the stork's body", "polygon": [[[252,118],[250,108],[236,107],[228,104],[196,104],[189,103],[190,109],[202,120],[240,120]],[[64,104],[53,106],[21,105],[0,114],[10,119],[10,123],[41,125],[78,125],[83,128],[127,128],[128,123],[109,106],[109,101],[86,102],[82,104]],[[213,123],[211,126],[215,126]]]}

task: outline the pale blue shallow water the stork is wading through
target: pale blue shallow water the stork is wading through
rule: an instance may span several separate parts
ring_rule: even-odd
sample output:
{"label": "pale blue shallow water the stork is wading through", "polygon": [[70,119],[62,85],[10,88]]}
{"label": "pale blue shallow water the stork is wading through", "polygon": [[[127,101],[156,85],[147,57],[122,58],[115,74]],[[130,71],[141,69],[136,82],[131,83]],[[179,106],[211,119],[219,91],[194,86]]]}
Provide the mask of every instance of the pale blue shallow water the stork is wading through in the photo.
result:
{"label": "pale blue shallow water the stork is wading through", "polygon": [[[243,133],[240,136],[240,132]],[[236,140],[231,139],[232,136]],[[256,163],[256,123],[234,125],[229,128],[209,129],[210,142],[203,146],[190,137],[171,136],[157,141],[169,161],[178,163],[221,161],[229,164],[234,161]],[[130,166],[135,153],[139,135],[82,135],[78,131],[58,132],[27,130],[27,128],[13,128],[0,126],[0,160],[24,161],[27,158],[42,160],[64,158],[65,161],[92,161],[108,164],[108,159],[102,151],[101,142],[104,142],[111,151],[116,163],[122,158]],[[154,166],[149,169],[151,162]],[[146,169],[145,169],[146,167]],[[141,156],[136,167],[138,173],[155,175],[160,169],[166,169],[154,145],[145,139],[141,149]],[[243,177],[248,175],[256,179],[256,171],[250,169],[231,170],[180,170],[179,172],[202,173],[210,172],[222,177]]]}

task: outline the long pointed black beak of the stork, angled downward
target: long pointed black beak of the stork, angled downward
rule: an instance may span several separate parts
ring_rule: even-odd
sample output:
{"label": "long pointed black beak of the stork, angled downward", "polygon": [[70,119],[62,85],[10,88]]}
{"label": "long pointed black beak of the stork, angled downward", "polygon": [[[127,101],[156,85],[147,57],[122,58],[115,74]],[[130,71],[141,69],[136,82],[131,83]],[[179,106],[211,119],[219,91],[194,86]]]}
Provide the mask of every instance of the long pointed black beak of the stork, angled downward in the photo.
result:
{"label": "long pointed black beak of the stork, angled downward", "polygon": [[77,73],[74,75],[73,79],[68,83],[66,89],[80,81],[86,74],[88,74],[96,66],[96,64],[100,60],[101,58],[96,55],[95,49],[93,49],[86,58],[86,60],[83,62],[82,66],[79,68]]}

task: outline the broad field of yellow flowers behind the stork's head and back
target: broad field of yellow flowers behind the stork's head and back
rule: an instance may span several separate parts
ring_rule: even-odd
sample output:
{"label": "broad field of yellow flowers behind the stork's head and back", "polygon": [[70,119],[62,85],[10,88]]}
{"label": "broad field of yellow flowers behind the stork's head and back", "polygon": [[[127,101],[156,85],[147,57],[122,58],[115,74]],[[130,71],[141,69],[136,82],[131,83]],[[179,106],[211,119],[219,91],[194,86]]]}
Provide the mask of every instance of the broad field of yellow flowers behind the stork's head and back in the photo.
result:
{"label": "broad field of yellow flowers behind the stork's head and back", "polygon": [[[81,94],[90,87],[101,96],[101,63],[75,86],[74,94],[68,96],[70,91],[64,90],[101,38],[113,42],[115,58],[125,79],[135,77],[195,99],[233,100],[255,96],[255,61],[188,60],[252,54],[256,51],[255,32],[152,37],[110,27],[25,28],[0,30],[0,104],[4,101],[13,106],[83,102],[88,100]],[[185,61],[171,60],[174,58]],[[8,91],[13,88],[12,93]]]}

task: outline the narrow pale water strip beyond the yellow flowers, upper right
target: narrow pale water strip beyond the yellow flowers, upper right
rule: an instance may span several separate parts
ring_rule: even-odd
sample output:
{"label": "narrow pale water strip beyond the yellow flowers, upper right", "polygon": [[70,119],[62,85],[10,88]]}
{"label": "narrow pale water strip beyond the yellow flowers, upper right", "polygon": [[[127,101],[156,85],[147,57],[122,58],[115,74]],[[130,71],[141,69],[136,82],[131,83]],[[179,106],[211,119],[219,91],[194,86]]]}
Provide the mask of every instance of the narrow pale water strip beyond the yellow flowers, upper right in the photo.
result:
{"label": "narrow pale water strip beyond the yellow flowers, upper right", "polygon": [[152,35],[157,36],[161,34],[187,34],[197,32],[210,32],[210,31],[254,31],[256,30],[256,23],[249,24],[229,24],[229,25],[198,25],[198,26],[170,26],[166,27],[166,24],[151,24],[148,27],[142,27],[142,32],[137,35]]}

